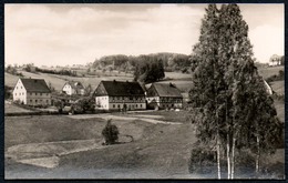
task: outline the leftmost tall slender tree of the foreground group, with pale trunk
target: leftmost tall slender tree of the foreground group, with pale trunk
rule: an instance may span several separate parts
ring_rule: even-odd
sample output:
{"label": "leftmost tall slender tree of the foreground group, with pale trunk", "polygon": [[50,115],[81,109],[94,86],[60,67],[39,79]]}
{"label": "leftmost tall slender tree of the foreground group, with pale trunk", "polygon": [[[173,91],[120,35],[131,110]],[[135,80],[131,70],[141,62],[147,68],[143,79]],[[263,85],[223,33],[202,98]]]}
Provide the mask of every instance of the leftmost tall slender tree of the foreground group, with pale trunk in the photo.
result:
{"label": "leftmost tall slender tree of the foreground group, with pale trunk", "polygon": [[[218,92],[217,78],[217,18],[216,4],[209,4],[202,21],[199,43],[195,58],[199,61],[193,73],[194,87],[189,92],[192,104],[197,111],[197,120],[193,122],[197,126],[197,138],[207,146],[217,149],[218,179],[220,179],[220,124],[218,120],[218,105],[216,96]],[[216,31],[216,32],[215,32]]]}

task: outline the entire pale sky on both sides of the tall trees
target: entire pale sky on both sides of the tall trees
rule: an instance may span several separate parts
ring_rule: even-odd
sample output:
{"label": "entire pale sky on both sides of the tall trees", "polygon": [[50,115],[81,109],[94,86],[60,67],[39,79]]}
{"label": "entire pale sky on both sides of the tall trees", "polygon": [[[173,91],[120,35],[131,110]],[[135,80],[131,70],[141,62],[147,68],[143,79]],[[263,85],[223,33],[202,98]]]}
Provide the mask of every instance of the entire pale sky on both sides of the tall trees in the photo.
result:
{"label": "entire pale sky on both sides of the tall trees", "polygon": [[[86,64],[110,54],[191,54],[207,4],[4,4],[4,61]],[[284,4],[239,4],[254,55],[284,55]]]}

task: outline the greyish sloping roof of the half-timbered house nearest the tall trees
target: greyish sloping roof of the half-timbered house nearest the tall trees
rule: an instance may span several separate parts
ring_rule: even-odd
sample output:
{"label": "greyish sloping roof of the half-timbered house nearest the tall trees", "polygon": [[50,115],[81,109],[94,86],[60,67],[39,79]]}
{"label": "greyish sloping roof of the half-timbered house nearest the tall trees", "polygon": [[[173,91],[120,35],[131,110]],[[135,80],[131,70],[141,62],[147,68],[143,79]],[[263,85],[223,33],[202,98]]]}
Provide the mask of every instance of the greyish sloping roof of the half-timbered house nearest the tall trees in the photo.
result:
{"label": "greyish sloping roof of the half-timbered house nearest the tall trees", "polygon": [[151,87],[154,87],[160,96],[183,98],[181,91],[172,83],[153,83]]}

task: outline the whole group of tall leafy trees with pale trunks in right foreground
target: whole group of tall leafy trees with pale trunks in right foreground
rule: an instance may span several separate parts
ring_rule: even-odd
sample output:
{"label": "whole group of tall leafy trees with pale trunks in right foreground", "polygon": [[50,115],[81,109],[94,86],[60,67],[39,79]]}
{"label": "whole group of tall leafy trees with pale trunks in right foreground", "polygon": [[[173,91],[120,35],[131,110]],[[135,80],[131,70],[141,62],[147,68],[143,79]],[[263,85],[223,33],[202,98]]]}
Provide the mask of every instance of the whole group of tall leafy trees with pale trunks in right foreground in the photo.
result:
{"label": "whole group of tall leafy trees with pale trunks in right foreground", "polygon": [[200,152],[215,150],[218,179],[223,162],[234,179],[236,160],[241,159],[237,152],[243,150],[254,154],[258,172],[260,155],[275,152],[281,141],[282,124],[254,64],[239,7],[209,4],[193,51],[191,120]]}

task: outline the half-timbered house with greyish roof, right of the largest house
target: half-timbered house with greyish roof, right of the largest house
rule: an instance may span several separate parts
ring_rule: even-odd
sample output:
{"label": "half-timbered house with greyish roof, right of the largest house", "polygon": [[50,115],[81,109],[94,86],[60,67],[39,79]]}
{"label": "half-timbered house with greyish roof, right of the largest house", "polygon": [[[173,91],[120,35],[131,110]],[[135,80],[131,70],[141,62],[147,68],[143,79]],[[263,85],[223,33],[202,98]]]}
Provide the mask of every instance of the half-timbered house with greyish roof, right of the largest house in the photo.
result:
{"label": "half-timbered house with greyish roof, right of the largest house", "polygon": [[183,95],[172,83],[152,83],[146,94],[147,105],[153,109],[181,109]]}

